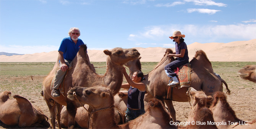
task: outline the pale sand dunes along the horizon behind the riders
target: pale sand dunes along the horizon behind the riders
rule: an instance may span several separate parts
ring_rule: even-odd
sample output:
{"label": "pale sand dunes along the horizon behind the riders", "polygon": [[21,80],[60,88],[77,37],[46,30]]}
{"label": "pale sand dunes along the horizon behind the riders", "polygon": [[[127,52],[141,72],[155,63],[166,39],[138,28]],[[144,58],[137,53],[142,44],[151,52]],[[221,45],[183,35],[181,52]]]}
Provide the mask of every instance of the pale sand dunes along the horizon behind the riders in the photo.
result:
{"label": "pale sand dunes along the horizon behind the riders", "polygon": [[[164,56],[166,48],[162,47],[135,47],[141,53],[142,62],[158,62]],[[171,48],[174,50],[174,48]],[[190,60],[196,50],[203,50],[210,61],[256,61],[256,39],[249,41],[235,41],[229,43],[205,43],[194,42],[188,45]],[[107,55],[103,50],[87,50],[90,61],[106,61]],[[58,51],[42,52],[25,55],[6,56],[0,55],[0,62],[55,62]]]}

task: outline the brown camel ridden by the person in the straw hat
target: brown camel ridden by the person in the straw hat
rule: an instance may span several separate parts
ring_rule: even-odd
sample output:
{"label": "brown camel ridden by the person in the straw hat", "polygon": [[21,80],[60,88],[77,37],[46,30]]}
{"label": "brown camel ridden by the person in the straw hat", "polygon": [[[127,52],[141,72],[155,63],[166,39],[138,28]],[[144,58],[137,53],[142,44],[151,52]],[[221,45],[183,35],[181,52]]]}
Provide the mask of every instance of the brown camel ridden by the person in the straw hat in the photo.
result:
{"label": "brown camel ridden by the person in the straw hat", "polygon": [[[169,112],[173,118],[173,121],[175,122],[176,114],[172,101],[188,102],[188,98],[186,96],[186,91],[188,91],[188,88],[170,88],[170,99],[166,99],[168,92],[167,84],[169,83],[168,81],[170,78],[165,74],[164,66],[174,60],[173,57],[167,57],[168,53],[172,53],[172,50],[167,49],[165,51],[164,57],[153,69],[153,71],[147,75],[144,75],[145,80],[143,80],[143,83],[147,86],[147,93],[145,94],[144,100],[148,101],[148,99],[157,98],[162,101],[163,104],[165,102],[169,108]],[[141,69],[141,66],[138,66],[138,64],[140,64],[138,61],[138,59],[132,61],[134,63],[133,66],[136,67],[134,70],[130,69],[130,71]],[[230,94],[227,83],[215,75],[211,62],[208,60],[206,53],[204,53],[203,50],[196,51],[196,55],[190,61],[190,64],[192,72],[191,87],[195,88],[196,90],[203,90],[206,95],[212,95],[212,93],[215,91],[223,91],[222,83],[224,83],[227,89],[227,93]]]}

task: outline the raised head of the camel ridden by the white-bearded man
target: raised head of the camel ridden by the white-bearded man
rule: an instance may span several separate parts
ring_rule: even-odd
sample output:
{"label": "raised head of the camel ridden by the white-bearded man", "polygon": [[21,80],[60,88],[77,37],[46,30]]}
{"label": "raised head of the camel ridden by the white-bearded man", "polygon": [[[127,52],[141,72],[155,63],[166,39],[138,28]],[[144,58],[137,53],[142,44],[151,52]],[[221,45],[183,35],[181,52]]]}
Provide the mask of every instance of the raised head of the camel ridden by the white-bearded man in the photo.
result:
{"label": "raised head of the camel ridden by the white-bearded man", "polygon": [[116,65],[123,66],[128,61],[139,57],[140,53],[136,49],[122,49],[116,47],[111,50],[104,50],[106,55],[109,55],[110,60]]}

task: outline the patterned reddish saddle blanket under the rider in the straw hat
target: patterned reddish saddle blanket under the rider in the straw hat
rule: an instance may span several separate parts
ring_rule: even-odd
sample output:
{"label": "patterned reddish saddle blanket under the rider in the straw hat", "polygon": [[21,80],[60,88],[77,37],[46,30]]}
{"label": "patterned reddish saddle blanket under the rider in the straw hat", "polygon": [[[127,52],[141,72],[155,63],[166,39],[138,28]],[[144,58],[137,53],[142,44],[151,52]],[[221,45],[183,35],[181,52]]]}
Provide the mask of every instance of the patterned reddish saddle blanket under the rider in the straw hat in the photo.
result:
{"label": "patterned reddish saddle blanket under the rider in the straw hat", "polygon": [[185,65],[182,65],[177,68],[176,74],[178,76],[178,79],[180,81],[180,85],[178,86],[178,89],[182,87],[190,87],[191,85],[191,67],[190,63],[187,63]]}

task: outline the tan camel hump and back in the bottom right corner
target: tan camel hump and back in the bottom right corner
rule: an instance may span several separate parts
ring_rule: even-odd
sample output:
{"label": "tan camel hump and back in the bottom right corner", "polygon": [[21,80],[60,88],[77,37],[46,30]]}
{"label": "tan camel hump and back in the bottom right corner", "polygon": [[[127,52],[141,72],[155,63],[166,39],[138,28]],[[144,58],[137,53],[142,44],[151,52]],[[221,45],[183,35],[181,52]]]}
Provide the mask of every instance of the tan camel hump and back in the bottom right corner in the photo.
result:
{"label": "tan camel hump and back in the bottom right corner", "polygon": [[233,127],[238,127],[239,129],[256,129],[255,120],[254,122],[247,123],[237,118],[235,111],[227,102],[227,96],[223,92],[217,91],[214,93],[212,105],[209,109],[213,113],[214,121],[217,123],[223,123],[217,126],[219,129],[229,129]]}

